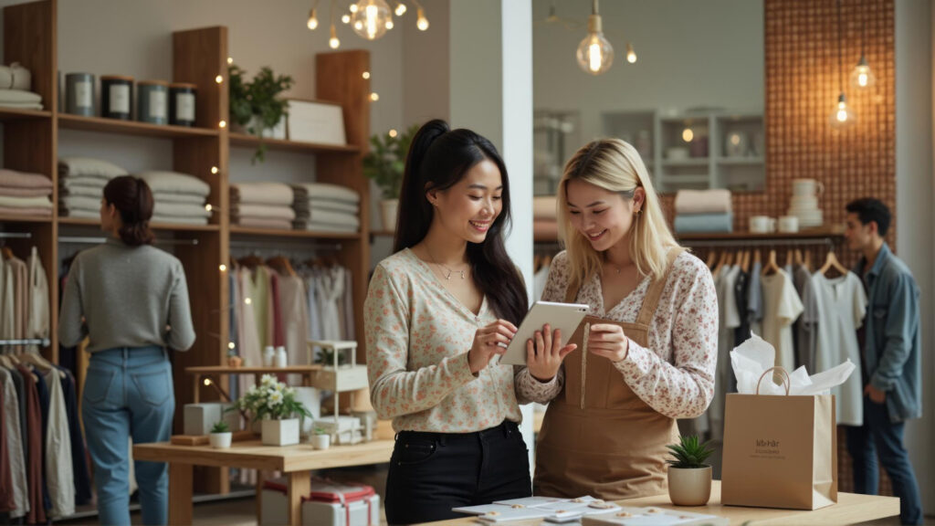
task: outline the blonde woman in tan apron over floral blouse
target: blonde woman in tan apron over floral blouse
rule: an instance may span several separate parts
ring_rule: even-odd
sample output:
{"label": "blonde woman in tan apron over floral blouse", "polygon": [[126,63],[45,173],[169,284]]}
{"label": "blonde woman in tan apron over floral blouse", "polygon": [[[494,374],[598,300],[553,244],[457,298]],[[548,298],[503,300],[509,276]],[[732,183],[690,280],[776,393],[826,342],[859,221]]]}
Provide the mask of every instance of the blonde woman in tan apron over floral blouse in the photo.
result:
{"label": "blonde woman in tan apron over floral blouse", "polygon": [[558,188],[567,250],[555,256],[542,300],[591,310],[564,362],[556,350],[560,358],[571,345],[545,334],[527,342],[519,398],[550,402],[534,493],[664,493],[675,419],[701,415],[714,391],[711,272],[672,237],[646,167],[626,142],[584,146]]}

